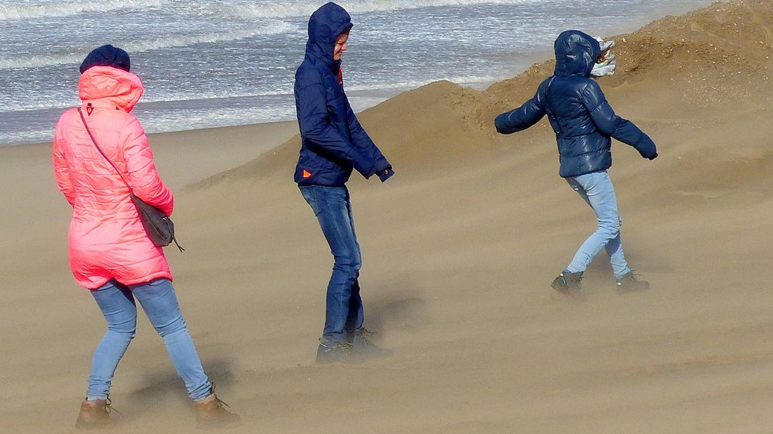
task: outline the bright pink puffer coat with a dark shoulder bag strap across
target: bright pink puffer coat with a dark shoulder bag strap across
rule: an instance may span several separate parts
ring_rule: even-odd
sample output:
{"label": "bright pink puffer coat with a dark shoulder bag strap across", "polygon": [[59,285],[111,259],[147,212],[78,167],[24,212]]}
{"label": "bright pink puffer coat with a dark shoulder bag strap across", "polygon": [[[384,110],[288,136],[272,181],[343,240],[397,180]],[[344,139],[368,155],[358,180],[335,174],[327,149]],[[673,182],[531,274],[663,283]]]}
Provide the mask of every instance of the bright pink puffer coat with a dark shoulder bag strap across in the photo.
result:
{"label": "bright pink puffer coat with a dark shoulder bag strap across", "polygon": [[[171,214],[172,192],[158,178],[148,137],[130,113],[144,90],[139,77],[94,66],[80,76],[78,90],[101,150],[135,195]],[[81,287],[94,290],[111,279],[124,285],[172,279],[162,248],[142,227],[129,188],[94,147],[77,109],[64,112],[56,124],[53,167],[59,189],[73,206],[70,268]]]}

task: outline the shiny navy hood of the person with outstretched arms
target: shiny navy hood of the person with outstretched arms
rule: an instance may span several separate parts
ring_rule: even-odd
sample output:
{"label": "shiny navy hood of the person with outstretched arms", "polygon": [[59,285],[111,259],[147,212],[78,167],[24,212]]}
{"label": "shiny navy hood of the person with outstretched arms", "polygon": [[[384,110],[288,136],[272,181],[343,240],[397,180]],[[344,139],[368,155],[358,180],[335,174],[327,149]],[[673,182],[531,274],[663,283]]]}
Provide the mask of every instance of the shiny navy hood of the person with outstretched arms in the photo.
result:
{"label": "shiny navy hood of the person with outstretched arms", "polygon": [[557,76],[591,76],[601,46],[592,36],[579,30],[562,32],[553,44]]}

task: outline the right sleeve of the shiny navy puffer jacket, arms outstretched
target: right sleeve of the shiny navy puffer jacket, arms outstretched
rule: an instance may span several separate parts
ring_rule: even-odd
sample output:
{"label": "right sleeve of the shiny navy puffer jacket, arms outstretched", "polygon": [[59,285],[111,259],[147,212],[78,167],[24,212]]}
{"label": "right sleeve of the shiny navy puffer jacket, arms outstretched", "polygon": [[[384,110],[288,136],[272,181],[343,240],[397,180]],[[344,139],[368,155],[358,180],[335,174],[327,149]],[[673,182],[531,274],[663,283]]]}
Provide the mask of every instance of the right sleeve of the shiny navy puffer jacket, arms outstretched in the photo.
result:
{"label": "right sleeve of the shiny navy puffer jacket, arms outstretched", "polygon": [[594,80],[589,81],[581,99],[598,131],[635,147],[644,158],[655,158],[657,154],[655,142],[633,122],[615,114],[615,110],[612,110],[604,93],[601,92],[601,86],[598,86]]}

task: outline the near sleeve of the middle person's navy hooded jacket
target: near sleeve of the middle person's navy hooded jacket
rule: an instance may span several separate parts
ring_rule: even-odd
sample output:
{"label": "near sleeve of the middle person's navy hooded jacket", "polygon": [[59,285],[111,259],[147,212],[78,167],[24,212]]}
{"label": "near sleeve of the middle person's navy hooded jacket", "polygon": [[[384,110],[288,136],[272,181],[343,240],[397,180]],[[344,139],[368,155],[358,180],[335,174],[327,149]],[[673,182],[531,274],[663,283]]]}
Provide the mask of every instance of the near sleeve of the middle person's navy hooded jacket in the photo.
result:
{"label": "near sleeve of the middle person's navy hooded jacket", "polygon": [[325,86],[315,70],[298,70],[295,76],[295,107],[298,127],[314,151],[342,161],[348,161],[367,177],[376,171],[373,161],[365,158],[346,137],[330,124]]}

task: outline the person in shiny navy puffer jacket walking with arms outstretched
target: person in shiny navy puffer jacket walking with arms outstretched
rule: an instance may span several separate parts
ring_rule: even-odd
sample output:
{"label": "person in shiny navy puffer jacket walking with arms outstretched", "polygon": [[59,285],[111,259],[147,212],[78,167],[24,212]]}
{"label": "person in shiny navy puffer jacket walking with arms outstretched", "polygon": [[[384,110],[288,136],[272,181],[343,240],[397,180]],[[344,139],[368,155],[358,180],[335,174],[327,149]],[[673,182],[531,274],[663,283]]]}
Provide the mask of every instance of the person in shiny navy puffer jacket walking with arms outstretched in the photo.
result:
{"label": "person in shiny navy puffer jacket walking with arms outstretched", "polygon": [[553,76],[540,83],[531,100],[495,120],[496,131],[512,134],[531,127],[547,114],[558,141],[560,176],[596,213],[598,229],[551,286],[560,293],[580,295],[584,271],[601,249],[606,249],[618,290],[646,290],[649,283],[638,280],[625,261],[617,198],[607,169],[612,165],[611,138],[635,147],[649,160],[658,156],[655,143],[631,121],[616,115],[601,87],[590,78],[601,56],[596,39],[568,30],[558,36],[554,49]]}

